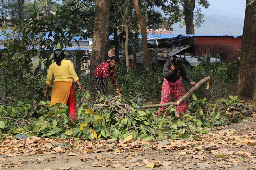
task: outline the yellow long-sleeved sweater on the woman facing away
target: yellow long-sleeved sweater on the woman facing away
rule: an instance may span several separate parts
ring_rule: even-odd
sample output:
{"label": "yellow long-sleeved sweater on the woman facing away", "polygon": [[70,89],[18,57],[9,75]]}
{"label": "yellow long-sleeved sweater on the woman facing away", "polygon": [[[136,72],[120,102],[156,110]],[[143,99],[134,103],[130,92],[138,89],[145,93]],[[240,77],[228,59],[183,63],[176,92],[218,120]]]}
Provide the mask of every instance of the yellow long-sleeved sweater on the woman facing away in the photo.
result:
{"label": "yellow long-sleeved sweater on the woman facing away", "polygon": [[73,63],[70,60],[61,60],[60,66],[58,66],[56,62],[51,64],[45,81],[46,84],[51,84],[53,75],[55,77],[54,81],[73,82],[74,80],[75,82],[77,82],[77,80],[79,79],[76,75]]}

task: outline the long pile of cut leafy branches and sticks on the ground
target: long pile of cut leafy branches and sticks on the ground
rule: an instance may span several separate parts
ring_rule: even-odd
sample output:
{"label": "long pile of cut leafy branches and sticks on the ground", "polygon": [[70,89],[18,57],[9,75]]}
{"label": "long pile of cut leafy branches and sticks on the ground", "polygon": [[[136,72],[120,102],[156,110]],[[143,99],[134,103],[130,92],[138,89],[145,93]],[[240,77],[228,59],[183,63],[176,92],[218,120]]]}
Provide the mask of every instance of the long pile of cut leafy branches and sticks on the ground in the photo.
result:
{"label": "long pile of cut leafy branches and sticks on the ground", "polygon": [[[78,117],[74,121],[70,120],[65,104],[57,103],[50,107],[50,101],[40,101],[36,104],[34,100],[2,99],[0,101],[0,133],[2,134],[0,140],[10,135],[16,137],[20,134],[26,134],[28,137],[34,135],[48,138],[105,138],[126,141],[166,138],[187,140],[191,135],[197,136],[208,132],[201,127],[227,125],[251,115],[239,113],[237,117],[230,116],[235,114],[230,112],[231,106],[236,109],[239,107],[251,109],[251,113],[254,111],[255,106],[242,105],[237,99],[238,96],[213,101],[206,98],[198,99],[200,94],[193,88],[194,94],[187,93],[192,94],[193,98],[188,105],[189,114],[179,113],[178,117],[175,117],[173,103],[169,103],[171,107],[156,116],[158,108],[145,106],[143,102],[135,103],[137,96],[128,100],[123,96],[109,98],[97,94],[99,97],[93,102],[82,102],[82,104],[79,102],[81,105],[77,112]],[[77,91],[75,96],[82,101],[84,98],[91,98],[88,91],[81,93]],[[101,101],[105,101],[105,104],[100,104]],[[167,111],[169,114],[164,117]]]}

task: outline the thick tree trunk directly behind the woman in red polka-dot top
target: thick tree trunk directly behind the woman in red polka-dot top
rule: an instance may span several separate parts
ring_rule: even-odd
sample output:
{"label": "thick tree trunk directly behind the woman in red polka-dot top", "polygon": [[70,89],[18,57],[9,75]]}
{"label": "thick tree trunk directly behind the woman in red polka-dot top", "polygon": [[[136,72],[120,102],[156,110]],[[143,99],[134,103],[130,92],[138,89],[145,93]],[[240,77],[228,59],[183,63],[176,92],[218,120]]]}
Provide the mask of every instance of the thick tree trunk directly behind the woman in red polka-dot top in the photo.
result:
{"label": "thick tree trunk directly behind the woman in red polka-dot top", "polygon": [[95,18],[93,30],[93,44],[91,53],[90,77],[87,90],[92,92],[94,86],[92,75],[96,67],[106,62],[108,58],[109,39],[109,15],[110,0],[95,0]]}

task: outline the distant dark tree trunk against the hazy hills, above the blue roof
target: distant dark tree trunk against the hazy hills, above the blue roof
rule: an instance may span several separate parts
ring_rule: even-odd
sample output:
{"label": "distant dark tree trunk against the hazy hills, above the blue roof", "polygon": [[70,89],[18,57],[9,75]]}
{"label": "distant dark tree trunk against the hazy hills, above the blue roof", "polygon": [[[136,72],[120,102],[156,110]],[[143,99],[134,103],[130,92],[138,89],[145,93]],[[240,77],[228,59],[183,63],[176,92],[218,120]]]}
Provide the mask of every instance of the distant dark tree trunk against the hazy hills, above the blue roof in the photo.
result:
{"label": "distant dark tree trunk against the hazy hills, above the blue roof", "polygon": [[186,34],[195,34],[194,22],[193,22],[194,9],[195,9],[195,0],[190,0],[190,3],[184,4]]}

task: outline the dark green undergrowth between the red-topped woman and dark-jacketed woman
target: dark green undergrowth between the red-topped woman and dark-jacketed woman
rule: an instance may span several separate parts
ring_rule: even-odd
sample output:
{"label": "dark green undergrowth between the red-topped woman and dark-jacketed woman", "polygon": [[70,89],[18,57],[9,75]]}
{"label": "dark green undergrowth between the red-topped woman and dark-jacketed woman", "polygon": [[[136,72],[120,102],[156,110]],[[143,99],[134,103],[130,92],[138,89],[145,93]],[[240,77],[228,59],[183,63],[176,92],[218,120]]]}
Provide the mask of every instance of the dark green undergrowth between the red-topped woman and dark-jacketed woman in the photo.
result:
{"label": "dark green undergrowth between the red-topped woman and dark-jacketed woman", "polygon": [[[119,86],[119,90],[124,96],[134,97],[141,93],[146,100],[152,100],[161,93],[163,83],[163,69],[152,70],[138,65],[136,70],[132,70],[127,74],[126,65],[120,63],[115,69],[115,78]],[[108,91],[114,94],[112,82],[109,82]]]}

